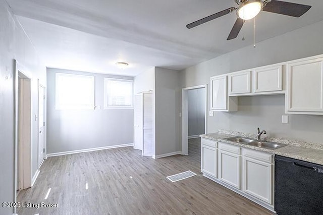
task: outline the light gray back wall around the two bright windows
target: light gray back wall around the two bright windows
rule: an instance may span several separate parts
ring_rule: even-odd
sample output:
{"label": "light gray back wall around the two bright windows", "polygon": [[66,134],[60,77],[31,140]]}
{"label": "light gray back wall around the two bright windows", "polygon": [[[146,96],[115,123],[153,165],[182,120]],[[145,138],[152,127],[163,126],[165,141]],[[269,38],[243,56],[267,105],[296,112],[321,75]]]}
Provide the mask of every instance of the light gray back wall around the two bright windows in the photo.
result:
{"label": "light gray back wall around the two bright windows", "polygon": [[[55,73],[95,76],[101,110],[55,110]],[[133,143],[133,110],[104,110],[104,77],[133,77],[47,69],[47,153]]]}

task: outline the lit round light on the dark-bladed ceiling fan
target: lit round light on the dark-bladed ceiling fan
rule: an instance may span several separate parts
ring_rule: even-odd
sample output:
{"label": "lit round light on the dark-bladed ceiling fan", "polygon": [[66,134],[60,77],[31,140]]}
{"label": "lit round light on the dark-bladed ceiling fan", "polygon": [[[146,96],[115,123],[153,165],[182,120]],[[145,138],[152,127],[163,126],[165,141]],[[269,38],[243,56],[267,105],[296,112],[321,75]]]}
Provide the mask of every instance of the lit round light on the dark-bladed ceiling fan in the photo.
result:
{"label": "lit round light on the dark-bladed ceiling fan", "polygon": [[260,0],[245,1],[238,8],[237,14],[240,19],[249,20],[254,18],[262,10],[263,3]]}

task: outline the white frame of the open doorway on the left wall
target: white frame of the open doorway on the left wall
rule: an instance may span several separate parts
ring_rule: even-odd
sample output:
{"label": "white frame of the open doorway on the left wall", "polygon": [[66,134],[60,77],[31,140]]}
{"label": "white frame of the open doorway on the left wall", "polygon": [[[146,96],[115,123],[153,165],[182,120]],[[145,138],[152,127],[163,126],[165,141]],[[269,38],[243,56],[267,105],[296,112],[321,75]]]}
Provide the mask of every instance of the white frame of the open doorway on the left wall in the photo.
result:
{"label": "white frame of the open doorway on the left wall", "polygon": [[[27,174],[24,175],[24,178],[29,182],[28,187],[31,187],[32,183],[32,76],[31,74],[24,68],[23,65],[17,62],[17,60],[14,60],[14,117],[15,117],[15,123],[14,123],[14,147],[15,147],[15,171],[14,171],[14,200],[17,202],[17,189],[18,189],[18,112],[19,112],[19,105],[18,105],[18,98],[19,98],[19,91],[18,91],[18,85],[19,85],[19,77],[23,77],[23,79],[29,79],[30,81],[30,122],[27,123],[26,129],[30,132],[30,140],[29,140],[29,148],[30,151],[26,152],[24,151],[24,160],[26,159],[27,162],[30,164],[30,167],[27,169]],[[14,208],[14,212],[16,213],[16,209]]]}

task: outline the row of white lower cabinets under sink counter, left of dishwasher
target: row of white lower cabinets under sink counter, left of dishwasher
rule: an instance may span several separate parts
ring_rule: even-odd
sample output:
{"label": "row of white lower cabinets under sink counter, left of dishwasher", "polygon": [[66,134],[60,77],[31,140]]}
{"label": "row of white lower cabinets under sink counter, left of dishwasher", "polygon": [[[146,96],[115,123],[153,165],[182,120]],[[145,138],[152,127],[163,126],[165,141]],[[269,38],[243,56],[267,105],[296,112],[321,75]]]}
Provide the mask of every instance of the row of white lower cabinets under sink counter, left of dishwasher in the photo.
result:
{"label": "row of white lower cabinets under sink counter, left of dishwasher", "polygon": [[201,138],[204,176],[274,211],[272,154]]}

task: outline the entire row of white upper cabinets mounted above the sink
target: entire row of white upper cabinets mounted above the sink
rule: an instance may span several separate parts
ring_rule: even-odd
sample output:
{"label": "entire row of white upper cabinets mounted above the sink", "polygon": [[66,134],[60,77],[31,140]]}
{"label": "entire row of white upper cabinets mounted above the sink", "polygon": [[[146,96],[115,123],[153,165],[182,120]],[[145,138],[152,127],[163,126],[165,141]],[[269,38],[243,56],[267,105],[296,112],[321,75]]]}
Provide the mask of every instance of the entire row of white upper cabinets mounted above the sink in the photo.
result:
{"label": "entire row of white upper cabinets mounted above the sink", "polygon": [[323,115],[323,55],[211,77],[211,111],[237,111],[237,96],[285,94],[286,114]]}

